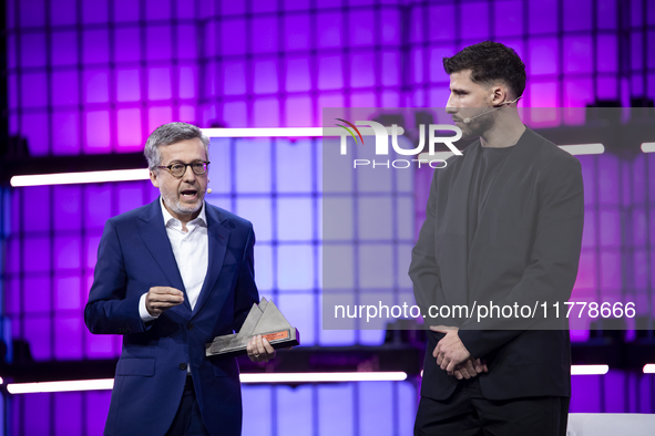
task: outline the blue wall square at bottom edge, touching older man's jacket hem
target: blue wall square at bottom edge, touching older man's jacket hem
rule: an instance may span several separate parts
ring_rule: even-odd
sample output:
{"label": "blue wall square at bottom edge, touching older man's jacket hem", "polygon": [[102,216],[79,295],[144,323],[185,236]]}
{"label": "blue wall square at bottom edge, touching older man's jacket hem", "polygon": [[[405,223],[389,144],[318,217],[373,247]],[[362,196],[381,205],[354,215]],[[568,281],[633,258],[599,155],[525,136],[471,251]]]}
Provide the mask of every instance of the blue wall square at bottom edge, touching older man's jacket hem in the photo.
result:
{"label": "blue wall square at bottom edge, touching older man's jacket hem", "polygon": [[244,435],[270,435],[273,428],[270,386],[242,386],[242,403],[244,408]]}

